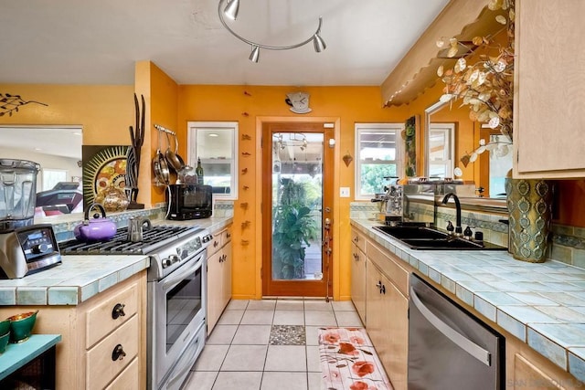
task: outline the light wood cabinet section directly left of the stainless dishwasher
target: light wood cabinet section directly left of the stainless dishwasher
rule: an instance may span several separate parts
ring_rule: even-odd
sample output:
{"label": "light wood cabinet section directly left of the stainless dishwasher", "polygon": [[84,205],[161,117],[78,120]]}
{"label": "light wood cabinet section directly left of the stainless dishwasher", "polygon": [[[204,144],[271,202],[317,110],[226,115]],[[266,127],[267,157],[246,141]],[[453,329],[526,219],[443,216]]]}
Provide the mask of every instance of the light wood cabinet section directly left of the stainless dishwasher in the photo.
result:
{"label": "light wood cabinet section directly left of the stainless dishwasher", "polygon": [[409,273],[380,248],[367,244],[367,333],[396,390],[407,388],[409,301],[405,294]]}

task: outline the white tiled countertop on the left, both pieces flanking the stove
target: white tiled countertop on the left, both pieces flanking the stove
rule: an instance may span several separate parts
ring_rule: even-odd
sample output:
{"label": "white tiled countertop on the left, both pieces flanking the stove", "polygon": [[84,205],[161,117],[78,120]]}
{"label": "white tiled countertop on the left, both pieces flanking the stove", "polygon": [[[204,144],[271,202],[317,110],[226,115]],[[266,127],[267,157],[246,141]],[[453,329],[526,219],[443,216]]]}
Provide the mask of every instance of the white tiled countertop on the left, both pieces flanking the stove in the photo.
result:
{"label": "white tiled countertop on the left, both pieces flanking the stove", "polygon": [[[154,225],[198,226],[213,233],[228,226],[232,218],[157,219],[152,222]],[[0,306],[77,305],[150,266],[146,255],[68,255],[61,256],[61,261],[58,266],[22,279],[0,280]]]}

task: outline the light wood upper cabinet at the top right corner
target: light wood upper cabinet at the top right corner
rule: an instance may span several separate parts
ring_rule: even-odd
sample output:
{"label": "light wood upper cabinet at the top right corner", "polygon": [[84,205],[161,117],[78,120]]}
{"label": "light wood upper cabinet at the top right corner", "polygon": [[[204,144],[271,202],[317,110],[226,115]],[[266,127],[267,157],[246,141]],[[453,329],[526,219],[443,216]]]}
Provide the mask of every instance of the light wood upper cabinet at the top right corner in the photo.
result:
{"label": "light wood upper cabinet at the top right corner", "polygon": [[516,0],[515,177],[585,176],[585,2]]}

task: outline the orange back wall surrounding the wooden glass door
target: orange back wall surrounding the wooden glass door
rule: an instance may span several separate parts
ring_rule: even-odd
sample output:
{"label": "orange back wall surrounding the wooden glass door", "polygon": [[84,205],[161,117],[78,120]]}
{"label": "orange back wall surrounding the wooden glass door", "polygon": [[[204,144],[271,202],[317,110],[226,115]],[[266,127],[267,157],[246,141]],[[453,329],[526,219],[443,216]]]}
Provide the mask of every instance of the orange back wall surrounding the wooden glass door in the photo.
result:
{"label": "orange back wall surrounding the wooden glass door", "polygon": [[[239,156],[239,168],[247,167],[248,174],[239,176],[239,199],[234,205],[234,235],[233,235],[233,296],[234,298],[260,298],[261,283],[259,283],[261,258],[261,241],[255,237],[260,220],[257,207],[260,206],[261,194],[256,193],[255,180],[260,177],[256,174],[256,167],[260,166],[257,159],[261,153],[255,150],[257,140],[256,120],[258,117],[300,117],[289,110],[284,102],[286,94],[302,90],[310,94],[312,112],[304,114],[304,118],[328,117],[338,118],[341,135],[338,150],[341,155],[349,151],[355,154],[354,125],[356,122],[398,121],[404,122],[407,118],[406,110],[390,111],[380,107],[380,90],[378,87],[261,87],[261,86],[208,86],[182,85],[179,86],[178,121],[180,153],[186,157],[186,123],[187,121],[238,121],[239,133],[249,134],[250,141],[239,140],[239,151],[249,152],[250,157]],[[354,157],[356,157],[354,155]],[[338,176],[339,186],[351,188],[354,193],[355,164],[346,167],[338,164],[335,174]],[[246,192],[241,190],[242,185],[248,185]],[[335,188],[335,195],[339,190]],[[334,221],[339,228],[337,249],[334,253],[334,263],[338,264],[334,275],[334,297],[346,300],[350,295],[350,227],[349,204],[350,198],[335,199],[339,205],[340,220]],[[239,206],[248,202],[247,209]],[[251,220],[251,227],[240,227],[241,221]],[[241,246],[241,240],[250,241],[250,245]]]}

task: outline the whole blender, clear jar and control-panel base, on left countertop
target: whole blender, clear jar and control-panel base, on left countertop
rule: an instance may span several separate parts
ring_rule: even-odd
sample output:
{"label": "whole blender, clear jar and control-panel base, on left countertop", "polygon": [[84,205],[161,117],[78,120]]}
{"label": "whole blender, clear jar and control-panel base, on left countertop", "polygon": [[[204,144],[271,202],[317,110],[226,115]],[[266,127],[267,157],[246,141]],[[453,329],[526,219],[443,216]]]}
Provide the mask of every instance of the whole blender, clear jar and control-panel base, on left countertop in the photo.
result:
{"label": "whole blender, clear jar and control-panel base, on left countertop", "polygon": [[50,224],[34,225],[40,165],[0,159],[0,277],[16,279],[61,263]]}

